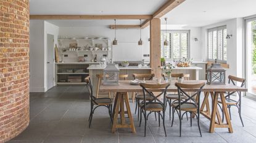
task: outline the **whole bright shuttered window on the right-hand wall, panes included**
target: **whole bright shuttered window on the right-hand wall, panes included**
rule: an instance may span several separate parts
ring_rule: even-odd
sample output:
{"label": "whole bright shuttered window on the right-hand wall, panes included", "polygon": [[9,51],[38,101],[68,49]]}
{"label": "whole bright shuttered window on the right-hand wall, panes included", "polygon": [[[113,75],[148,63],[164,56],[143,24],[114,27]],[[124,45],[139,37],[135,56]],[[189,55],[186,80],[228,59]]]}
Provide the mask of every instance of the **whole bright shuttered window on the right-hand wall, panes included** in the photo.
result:
{"label": "whole bright shuttered window on the right-hand wall, panes included", "polygon": [[226,63],[226,26],[208,29],[208,60]]}

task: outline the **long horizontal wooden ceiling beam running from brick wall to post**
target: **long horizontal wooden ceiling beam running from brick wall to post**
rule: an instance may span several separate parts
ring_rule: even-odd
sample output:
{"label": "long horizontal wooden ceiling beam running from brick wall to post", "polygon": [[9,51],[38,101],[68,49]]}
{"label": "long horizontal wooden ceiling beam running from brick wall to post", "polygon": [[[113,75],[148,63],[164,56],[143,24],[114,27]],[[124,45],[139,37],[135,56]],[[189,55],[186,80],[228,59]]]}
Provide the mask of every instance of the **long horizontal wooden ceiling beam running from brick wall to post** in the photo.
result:
{"label": "long horizontal wooden ceiling beam running from brick wall to post", "polygon": [[30,20],[147,20],[152,15],[30,15]]}

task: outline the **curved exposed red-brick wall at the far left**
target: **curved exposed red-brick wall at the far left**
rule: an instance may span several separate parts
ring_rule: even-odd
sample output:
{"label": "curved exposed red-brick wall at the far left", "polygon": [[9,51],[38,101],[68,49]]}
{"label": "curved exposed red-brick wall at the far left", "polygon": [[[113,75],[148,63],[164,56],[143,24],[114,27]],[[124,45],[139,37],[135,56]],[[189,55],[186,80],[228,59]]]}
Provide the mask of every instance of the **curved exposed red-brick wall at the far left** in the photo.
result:
{"label": "curved exposed red-brick wall at the far left", "polygon": [[29,0],[0,0],[0,142],[29,123]]}

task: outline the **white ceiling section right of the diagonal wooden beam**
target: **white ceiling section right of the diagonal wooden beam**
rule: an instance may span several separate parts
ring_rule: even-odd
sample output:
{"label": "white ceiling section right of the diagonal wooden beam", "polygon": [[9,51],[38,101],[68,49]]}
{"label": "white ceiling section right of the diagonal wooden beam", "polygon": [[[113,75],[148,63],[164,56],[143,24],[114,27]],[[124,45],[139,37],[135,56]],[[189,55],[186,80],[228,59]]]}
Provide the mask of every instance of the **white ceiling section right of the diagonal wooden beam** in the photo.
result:
{"label": "white ceiling section right of the diagonal wooden beam", "polygon": [[200,27],[255,14],[256,0],[186,0],[163,17],[170,25]]}

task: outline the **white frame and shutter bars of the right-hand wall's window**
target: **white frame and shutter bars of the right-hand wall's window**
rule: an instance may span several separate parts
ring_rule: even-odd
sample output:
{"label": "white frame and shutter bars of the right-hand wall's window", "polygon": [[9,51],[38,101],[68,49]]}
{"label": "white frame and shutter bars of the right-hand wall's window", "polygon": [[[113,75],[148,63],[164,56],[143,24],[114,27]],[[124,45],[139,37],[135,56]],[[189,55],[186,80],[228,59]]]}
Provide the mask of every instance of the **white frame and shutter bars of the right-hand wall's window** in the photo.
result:
{"label": "white frame and shutter bars of the right-hand wall's window", "polygon": [[[224,40],[226,40],[226,36],[224,35],[224,30],[226,29],[226,31],[227,31],[227,28],[226,28],[226,25],[222,25],[222,26],[217,26],[217,27],[214,27],[214,28],[209,28],[209,29],[207,29],[207,60],[208,61],[215,61],[215,59],[211,59],[211,58],[209,58],[209,33],[210,32],[212,32],[212,58],[213,58],[213,55],[214,55],[214,53],[213,53],[213,31],[217,31],[217,37],[216,37],[216,39],[217,39],[217,61],[218,61],[218,63],[225,63],[226,64],[226,61],[227,60],[224,60]],[[218,31],[219,30],[221,30],[222,31],[222,39],[221,39],[221,47],[222,47],[222,49],[221,49],[221,55],[218,55],[218,49],[219,49],[219,44],[218,44]],[[227,41],[226,41],[226,48],[228,48],[228,43],[227,43]],[[226,49],[226,52],[227,52],[227,49]],[[226,56],[227,56],[228,54],[226,53]],[[219,56],[221,56],[222,57],[222,59],[221,60],[218,60],[218,57]]]}

